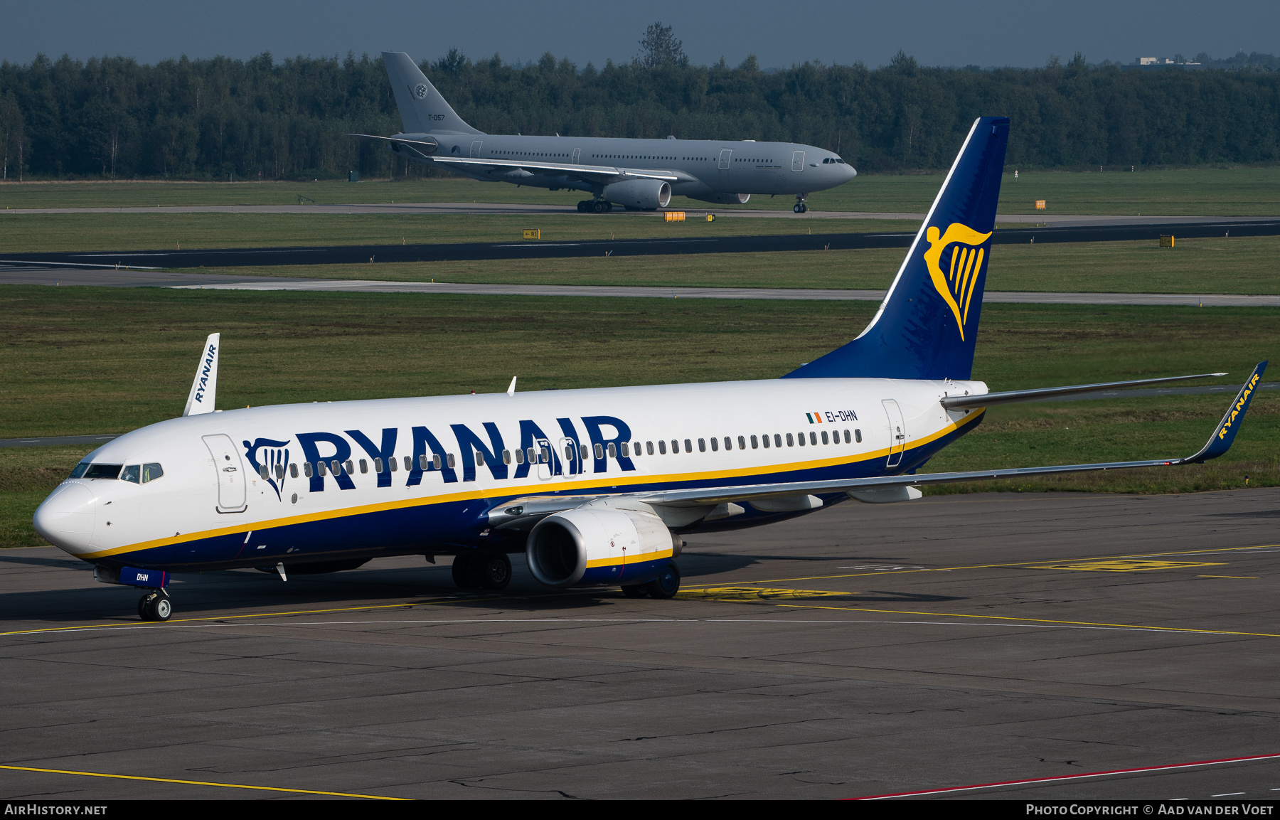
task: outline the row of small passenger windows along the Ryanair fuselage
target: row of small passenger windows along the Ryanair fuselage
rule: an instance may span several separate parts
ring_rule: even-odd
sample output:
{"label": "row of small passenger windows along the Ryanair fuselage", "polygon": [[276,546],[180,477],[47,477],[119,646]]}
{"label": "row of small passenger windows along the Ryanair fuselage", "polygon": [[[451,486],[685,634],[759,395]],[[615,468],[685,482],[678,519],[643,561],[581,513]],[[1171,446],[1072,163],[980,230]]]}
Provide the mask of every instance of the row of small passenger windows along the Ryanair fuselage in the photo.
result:
{"label": "row of small passenger windows along the Ryanair fuselage", "polygon": [[[735,443],[733,436],[712,438],[709,441],[710,441],[710,449],[712,449],[713,453],[719,452],[719,449],[722,446],[726,450],[732,450],[733,449],[733,443]],[[809,444],[810,446],[817,446],[819,443],[820,444],[828,444],[828,445],[829,444],[841,444],[841,443],[844,443],[844,444],[854,444],[854,443],[861,444],[861,441],[863,441],[863,431],[861,430],[854,430],[854,431],[850,432],[849,430],[844,430],[844,431],[841,431],[841,430],[833,430],[833,431],[828,432],[827,430],[823,430],[823,431],[819,432],[819,431],[815,431],[815,430],[810,430],[808,432],[808,436],[806,436],[806,434],[804,431],[797,432],[797,434],[774,432],[774,434],[764,434],[764,435],[760,435],[760,436],[737,436],[737,449],[740,449],[740,450],[748,449],[748,445],[749,445],[748,443],[749,441],[750,441],[750,448],[753,450],[760,449],[762,446],[764,449],[769,449],[771,446],[780,448],[780,446],[783,446],[783,441],[786,441],[786,446],[805,446],[805,444]],[[705,453],[707,452],[707,445],[708,445],[708,439],[698,439],[698,452],[699,453]],[[589,454],[593,452],[593,450],[589,450],[585,444],[579,445],[577,450],[579,452],[575,453],[573,445],[571,445],[571,444],[566,445],[564,446],[564,459],[571,462],[576,457],[576,458],[580,458],[582,461],[586,461],[588,457],[589,457]],[[659,440],[657,443],[657,446],[654,445],[653,441],[645,441],[644,444],[641,444],[640,441],[636,441],[635,444],[630,444],[627,441],[623,441],[621,445],[614,445],[611,441],[609,445],[608,445],[608,448],[605,448],[603,444],[594,445],[594,453],[595,453],[596,458],[604,458],[605,453],[608,454],[609,458],[618,458],[618,455],[621,455],[622,458],[631,458],[632,455],[636,455],[636,457],[639,457],[639,455],[654,455],[654,454],[666,455],[667,452],[668,450],[667,450],[667,440],[666,439]],[[681,452],[681,440],[680,439],[671,439],[671,453],[680,453],[680,452]],[[692,439],[685,439],[684,440],[684,452],[685,453],[692,453],[694,452],[694,440]],[[413,469],[413,457],[412,455],[404,455],[403,459],[404,459],[404,469],[406,471]],[[475,450],[475,459],[476,459],[476,467],[483,466],[485,463],[484,462],[484,453],[481,453],[479,450]],[[515,450],[515,452],[512,452],[512,450],[503,450],[502,452],[502,462],[504,464],[511,464],[512,462],[515,462],[516,464],[525,464],[525,463],[529,463],[529,464],[547,464],[550,461],[552,461],[552,450],[550,450],[549,446],[540,446],[540,448],[531,446],[531,448],[527,448],[526,450]],[[448,453],[444,458],[440,458],[439,453],[433,454],[430,458],[428,458],[426,454],[420,454],[417,457],[417,463],[419,463],[419,469],[443,469],[443,467],[444,467],[445,463],[448,463],[451,468],[453,468],[453,467],[457,466],[456,462],[454,462],[454,458],[453,458],[453,453]],[[375,458],[374,459],[374,472],[375,473],[380,473],[380,472],[384,471],[384,468],[387,469],[387,472],[397,472],[397,469],[399,468],[399,462],[396,458],[390,458],[390,459],[387,461],[387,463],[384,466],[383,464],[383,459]],[[355,472],[356,472],[356,462],[352,461],[352,459],[348,459],[346,462],[340,462],[338,459],[333,459],[333,461],[328,461],[328,462],[316,462],[314,466],[312,466],[311,462],[302,462],[302,476],[305,476],[307,478],[310,478],[311,476],[326,476],[329,473],[333,473],[335,476],[353,475]],[[360,459],[360,472],[361,473],[367,473],[369,472],[369,461],[367,459],[364,459],[364,458]],[[262,480],[265,481],[265,480],[268,480],[268,478],[271,477],[273,471],[270,471],[268,467],[264,466],[264,467],[260,468],[260,473],[262,476]],[[274,475],[275,475],[276,478],[284,478],[284,464],[276,464],[275,469],[274,469]],[[293,478],[298,477],[298,466],[297,466],[297,463],[289,464],[289,476],[293,477]]]}

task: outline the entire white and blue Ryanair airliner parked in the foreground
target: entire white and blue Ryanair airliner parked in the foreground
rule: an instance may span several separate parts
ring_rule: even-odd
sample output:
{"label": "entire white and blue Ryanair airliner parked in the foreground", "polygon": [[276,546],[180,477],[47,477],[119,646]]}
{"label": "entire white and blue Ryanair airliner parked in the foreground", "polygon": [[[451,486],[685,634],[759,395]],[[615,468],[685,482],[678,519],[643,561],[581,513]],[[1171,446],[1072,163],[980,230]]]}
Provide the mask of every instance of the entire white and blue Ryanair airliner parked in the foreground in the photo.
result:
{"label": "entire white and blue Ryanair airliner parked in the foreground", "polygon": [[[1185,458],[919,473],[984,409],[1176,379],[989,393],[972,379],[1009,120],[982,118],[876,317],[781,379],[214,409],[209,338],[187,407],[90,453],[36,510],[95,577],[172,611],[169,573],[353,569],[453,556],[465,588],[503,588],[524,553],[548,587],[671,597],[690,532],[804,516],[918,486],[1199,463],[1231,445],[1266,362]],[[1204,374],[1225,375],[1225,374]]]}

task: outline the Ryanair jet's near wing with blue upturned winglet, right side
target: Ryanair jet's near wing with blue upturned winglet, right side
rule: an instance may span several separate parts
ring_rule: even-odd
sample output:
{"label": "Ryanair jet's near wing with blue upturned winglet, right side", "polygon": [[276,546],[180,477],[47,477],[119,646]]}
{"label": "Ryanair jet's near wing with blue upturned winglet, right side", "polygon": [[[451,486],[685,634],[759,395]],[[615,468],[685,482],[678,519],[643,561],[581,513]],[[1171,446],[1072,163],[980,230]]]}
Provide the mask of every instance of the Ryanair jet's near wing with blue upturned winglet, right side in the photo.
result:
{"label": "Ryanair jet's near wing with blue upturned winglet, right side", "polygon": [[[704,507],[732,501],[751,501],[780,496],[812,495],[815,493],[876,493],[914,487],[927,484],[954,484],[960,481],[984,481],[988,478],[1020,478],[1025,476],[1052,476],[1070,472],[1102,472],[1107,469],[1129,469],[1133,467],[1172,467],[1179,464],[1199,464],[1226,453],[1235,440],[1235,434],[1249,409],[1253,393],[1267,362],[1258,363],[1249,379],[1240,388],[1231,406],[1213,435],[1194,455],[1185,458],[1153,459],[1140,462],[1103,462],[1096,464],[1060,464],[1052,467],[1014,467],[1010,469],[983,469],[970,472],[938,472],[922,475],[878,476],[873,478],[835,478],[828,481],[792,481],[786,484],[744,485],[736,487],[692,487],[687,490],[658,490],[650,493],[630,493],[608,498],[627,498],[635,501],[666,507]],[[604,498],[595,496],[539,496],[516,499],[490,510],[489,519],[495,524],[516,519],[540,518],[564,509]],[[886,499],[890,500],[890,499]]]}

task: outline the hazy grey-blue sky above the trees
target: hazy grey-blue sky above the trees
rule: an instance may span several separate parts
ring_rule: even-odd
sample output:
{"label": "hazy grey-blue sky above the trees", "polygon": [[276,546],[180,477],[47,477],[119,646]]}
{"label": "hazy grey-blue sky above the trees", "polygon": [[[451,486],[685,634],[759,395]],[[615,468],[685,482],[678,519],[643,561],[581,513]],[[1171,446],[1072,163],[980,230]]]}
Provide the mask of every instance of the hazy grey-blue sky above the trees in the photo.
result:
{"label": "hazy grey-blue sky above the trees", "polygon": [[248,58],[270,51],[346,55],[407,51],[435,59],[457,47],[472,58],[535,60],[550,51],[580,67],[630,60],[645,27],[675,27],[694,63],[731,64],[755,54],[762,67],[822,60],[882,65],[899,50],[925,65],[1043,65],[1076,51],[1091,63],[1135,56],[1221,58],[1280,52],[1275,0],[969,0],[938,3],[453,3],[384,0],[45,0],[0,4],[0,59],[38,52],[77,59],[124,55],[155,63]]}

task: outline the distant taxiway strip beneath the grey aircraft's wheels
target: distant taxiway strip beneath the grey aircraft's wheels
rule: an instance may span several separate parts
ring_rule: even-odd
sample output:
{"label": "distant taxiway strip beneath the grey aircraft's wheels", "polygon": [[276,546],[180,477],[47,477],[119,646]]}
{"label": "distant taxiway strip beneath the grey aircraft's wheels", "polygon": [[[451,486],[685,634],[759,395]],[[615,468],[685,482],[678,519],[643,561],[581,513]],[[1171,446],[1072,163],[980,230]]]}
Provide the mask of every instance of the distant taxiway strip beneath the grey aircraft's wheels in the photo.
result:
{"label": "distant taxiway strip beneath the grey aircraft's wheels", "polygon": [[[658,217],[663,211],[611,211],[608,215],[579,214],[577,202],[563,205],[516,205],[508,202],[334,202],[334,203],[300,203],[300,205],[174,205],[156,207],[44,207],[44,209],[13,209],[4,214],[462,214],[462,215],[499,215],[499,216],[582,216],[584,219],[614,219],[627,217]],[[893,211],[815,211],[795,214],[790,210],[763,210],[763,209],[717,209],[717,207],[680,207],[672,205],[668,211],[680,210],[694,217],[705,217],[708,214],[717,219],[746,216],[751,219],[884,219],[884,220],[915,220],[924,219],[923,212],[893,212]],[[1085,226],[1085,225],[1184,225],[1196,223],[1229,223],[1247,225],[1258,221],[1275,221],[1274,216],[1142,216],[1142,215],[1097,215],[1097,214],[997,214],[997,223],[1030,223],[1036,225],[1055,226]]]}

